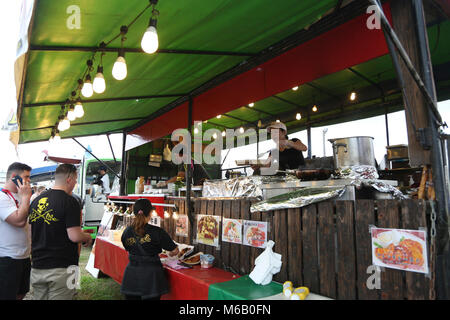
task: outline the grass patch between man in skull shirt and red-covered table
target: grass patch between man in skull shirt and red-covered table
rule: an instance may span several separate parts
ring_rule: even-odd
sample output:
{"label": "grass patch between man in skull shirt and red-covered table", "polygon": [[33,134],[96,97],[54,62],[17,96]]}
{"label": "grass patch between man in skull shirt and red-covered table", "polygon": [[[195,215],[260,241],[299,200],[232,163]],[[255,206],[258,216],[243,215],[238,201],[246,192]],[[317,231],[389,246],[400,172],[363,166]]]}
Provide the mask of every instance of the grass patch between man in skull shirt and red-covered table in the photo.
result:
{"label": "grass patch between man in skull shirt and red-covered table", "polygon": [[91,254],[91,247],[82,248],[80,254],[80,272],[81,281],[78,293],[75,300],[123,300],[123,295],[120,293],[120,284],[107,276],[99,275],[99,278],[94,278],[87,270],[86,264]]}

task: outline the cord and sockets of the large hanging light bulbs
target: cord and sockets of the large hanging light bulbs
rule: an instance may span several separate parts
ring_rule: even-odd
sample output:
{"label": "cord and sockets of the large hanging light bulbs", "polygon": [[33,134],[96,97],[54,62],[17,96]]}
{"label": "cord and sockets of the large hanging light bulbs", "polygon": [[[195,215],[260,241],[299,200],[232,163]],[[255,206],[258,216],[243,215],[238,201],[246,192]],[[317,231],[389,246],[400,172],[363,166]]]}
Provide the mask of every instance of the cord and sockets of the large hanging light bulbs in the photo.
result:
{"label": "cord and sockets of the large hanging light bulbs", "polygon": [[[90,63],[88,63],[87,62],[87,64],[88,64],[88,67],[84,70],[84,72],[83,72],[83,75],[81,76],[81,78],[78,80],[78,83],[77,83],[77,87],[75,88],[75,90],[73,90],[73,91],[71,91],[71,95],[72,95],[72,99],[67,99],[68,101],[69,101],[69,109],[68,109],[68,111],[69,110],[71,110],[71,106],[70,106],[70,104],[78,104],[78,107],[80,107],[80,105],[81,105],[81,98],[80,98],[80,95],[81,95],[81,89],[83,88],[83,84],[84,84],[84,82],[81,82],[80,83],[80,80],[81,79],[86,79],[86,77],[89,75],[90,76],[90,72],[92,72],[93,71],[93,63],[95,62],[95,57],[96,57],[96,55],[97,55],[97,53],[98,52],[100,52],[100,64],[99,64],[99,66],[101,66],[101,68],[103,68],[103,56],[105,55],[105,52],[104,52],[104,48],[106,47],[106,46],[108,46],[109,44],[111,44],[113,41],[115,41],[116,39],[118,39],[120,36],[122,36],[122,38],[121,38],[121,50],[122,50],[122,52],[124,51],[124,49],[123,49],[123,43],[124,43],[124,41],[126,40],[126,37],[125,37],[125,34],[126,34],[126,32],[124,33],[124,29],[126,28],[126,30],[128,31],[128,29],[149,9],[149,8],[152,8],[152,19],[154,18],[154,17],[156,17],[157,15],[159,15],[159,11],[158,10],[156,10],[155,9],[155,6],[156,6],[156,4],[158,3],[158,0],[149,0],[149,4],[147,4],[147,6],[145,6],[145,8],[141,11],[141,12],[139,12],[139,14],[130,22],[130,23],[128,23],[128,25],[125,25],[125,26],[122,26],[121,27],[121,29],[120,29],[120,32],[117,34],[117,35],[115,35],[113,38],[111,38],[109,41],[107,41],[107,42],[104,42],[104,41],[102,41],[101,43],[100,43],[100,45],[99,45],[99,47],[98,48],[95,48],[94,50],[93,50],[93,53],[92,53],[92,56],[90,57],[90,59],[88,59],[87,61],[90,61],[90,63],[92,63],[92,64],[90,64]],[[102,71],[102,69],[100,69],[101,71]],[[97,74],[98,74],[98,72],[97,72]],[[94,79],[95,80],[95,79]],[[83,81],[83,80],[81,80],[81,81]],[[75,94],[74,94],[75,93]],[[78,95],[78,97],[76,98],[76,96]],[[75,111],[77,110],[77,105],[75,105]],[[80,110],[80,108],[78,108],[78,110]],[[82,110],[82,106],[81,106],[81,110]],[[67,112],[68,112],[67,111]],[[74,111],[74,112],[75,112]],[[58,129],[58,125],[59,125],[59,123],[65,118],[65,117],[67,117],[67,112],[65,112],[65,105],[64,105],[64,109],[62,109],[62,112],[64,113],[62,116],[63,116],[63,118],[61,119],[61,116],[58,116],[58,121],[55,123],[55,126],[52,128],[52,132],[51,132],[51,137],[50,137],[50,141],[53,141],[53,140],[55,140],[54,139],[54,137],[55,137],[55,135],[58,135],[59,136],[59,132],[61,131],[61,130],[59,130]],[[78,114],[81,114],[80,113],[80,111],[79,111],[79,113]],[[82,111],[82,114],[84,114],[84,111]],[[82,117],[82,115],[81,116],[79,116],[79,117]],[[70,126],[70,122],[69,122],[69,126]]]}

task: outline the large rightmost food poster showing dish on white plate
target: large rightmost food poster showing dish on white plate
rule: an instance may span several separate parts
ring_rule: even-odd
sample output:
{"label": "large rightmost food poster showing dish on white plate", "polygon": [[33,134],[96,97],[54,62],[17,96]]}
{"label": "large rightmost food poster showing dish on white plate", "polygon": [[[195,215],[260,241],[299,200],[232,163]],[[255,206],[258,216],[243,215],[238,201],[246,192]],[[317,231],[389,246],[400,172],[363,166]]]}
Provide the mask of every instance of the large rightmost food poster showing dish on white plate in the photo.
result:
{"label": "large rightmost food poster showing dish on white plate", "polygon": [[374,265],[428,273],[426,231],[371,228],[371,236]]}

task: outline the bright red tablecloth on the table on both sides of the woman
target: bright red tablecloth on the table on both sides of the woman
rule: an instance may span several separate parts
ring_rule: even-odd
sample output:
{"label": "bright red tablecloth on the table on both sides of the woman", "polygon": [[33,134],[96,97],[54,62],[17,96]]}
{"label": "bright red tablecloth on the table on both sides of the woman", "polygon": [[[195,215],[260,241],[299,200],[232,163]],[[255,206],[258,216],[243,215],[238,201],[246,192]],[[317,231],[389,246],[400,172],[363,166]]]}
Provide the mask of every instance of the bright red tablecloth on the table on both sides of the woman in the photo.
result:
{"label": "bright red tablecloth on the table on both sides of the woman", "polygon": [[[123,273],[128,264],[128,252],[100,237],[95,241],[94,267],[122,282]],[[239,277],[231,272],[218,268],[175,270],[165,266],[170,293],[164,295],[164,300],[208,300],[209,285],[225,282]]]}

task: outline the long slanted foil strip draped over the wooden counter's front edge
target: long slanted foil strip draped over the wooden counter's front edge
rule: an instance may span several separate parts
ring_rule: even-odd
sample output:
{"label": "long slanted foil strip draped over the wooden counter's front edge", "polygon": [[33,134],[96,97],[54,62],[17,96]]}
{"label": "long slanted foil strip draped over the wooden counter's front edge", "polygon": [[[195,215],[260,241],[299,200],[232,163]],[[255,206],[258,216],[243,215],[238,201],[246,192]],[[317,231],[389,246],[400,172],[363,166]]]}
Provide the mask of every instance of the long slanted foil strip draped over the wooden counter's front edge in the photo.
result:
{"label": "long slanted foil strip draped over the wooden counter's front edge", "polygon": [[250,212],[301,208],[312,203],[340,197],[344,192],[345,186],[302,188],[255,203],[250,207]]}

